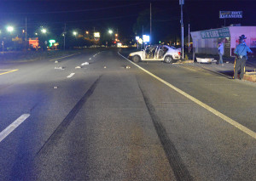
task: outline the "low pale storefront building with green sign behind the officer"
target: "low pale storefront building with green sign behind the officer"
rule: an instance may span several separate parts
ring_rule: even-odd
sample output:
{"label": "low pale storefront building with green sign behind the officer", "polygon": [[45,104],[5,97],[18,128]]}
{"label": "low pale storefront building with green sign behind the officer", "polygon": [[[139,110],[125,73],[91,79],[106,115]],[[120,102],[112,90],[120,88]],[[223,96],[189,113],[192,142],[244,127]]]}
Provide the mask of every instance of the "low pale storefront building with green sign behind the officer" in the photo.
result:
{"label": "low pale storefront building with green sign behind the officer", "polygon": [[246,43],[256,52],[256,26],[228,26],[205,31],[190,32],[195,54],[218,54],[218,42],[224,42],[224,55],[234,56],[239,37],[245,35]]}

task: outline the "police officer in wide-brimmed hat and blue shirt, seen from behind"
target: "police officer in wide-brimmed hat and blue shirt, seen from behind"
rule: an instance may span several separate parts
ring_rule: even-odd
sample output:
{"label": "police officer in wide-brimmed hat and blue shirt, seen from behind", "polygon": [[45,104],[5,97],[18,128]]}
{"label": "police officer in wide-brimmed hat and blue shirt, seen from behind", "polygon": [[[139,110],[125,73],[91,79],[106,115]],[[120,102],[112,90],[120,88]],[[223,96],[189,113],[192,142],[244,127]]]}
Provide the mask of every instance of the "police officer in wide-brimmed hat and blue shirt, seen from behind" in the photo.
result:
{"label": "police officer in wide-brimmed hat and blue shirt, seen from behind", "polygon": [[246,61],[247,61],[247,52],[253,53],[252,50],[248,48],[245,42],[245,39],[247,39],[245,35],[241,35],[241,37],[239,37],[240,44],[236,46],[236,49],[234,51],[234,53],[236,54],[235,65],[234,65],[234,79],[237,79],[238,71],[241,71],[240,79],[243,79]]}

